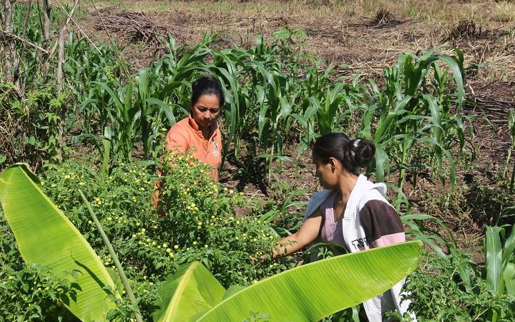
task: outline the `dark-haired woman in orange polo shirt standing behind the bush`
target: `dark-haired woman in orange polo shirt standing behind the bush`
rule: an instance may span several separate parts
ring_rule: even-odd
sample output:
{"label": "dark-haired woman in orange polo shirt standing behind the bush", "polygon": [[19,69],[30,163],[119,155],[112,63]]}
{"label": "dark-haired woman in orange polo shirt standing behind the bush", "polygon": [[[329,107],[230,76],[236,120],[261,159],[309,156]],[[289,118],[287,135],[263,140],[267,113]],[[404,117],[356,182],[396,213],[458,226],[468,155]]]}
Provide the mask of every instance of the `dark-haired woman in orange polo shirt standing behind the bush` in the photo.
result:
{"label": "dark-haired woman in orange polo shirt standing behind the bush", "polygon": [[209,76],[196,80],[191,89],[189,116],[171,127],[167,134],[167,149],[191,152],[199,161],[213,167],[212,177],[218,181],[222,136],[217,119],[224,104],[223,91]]}

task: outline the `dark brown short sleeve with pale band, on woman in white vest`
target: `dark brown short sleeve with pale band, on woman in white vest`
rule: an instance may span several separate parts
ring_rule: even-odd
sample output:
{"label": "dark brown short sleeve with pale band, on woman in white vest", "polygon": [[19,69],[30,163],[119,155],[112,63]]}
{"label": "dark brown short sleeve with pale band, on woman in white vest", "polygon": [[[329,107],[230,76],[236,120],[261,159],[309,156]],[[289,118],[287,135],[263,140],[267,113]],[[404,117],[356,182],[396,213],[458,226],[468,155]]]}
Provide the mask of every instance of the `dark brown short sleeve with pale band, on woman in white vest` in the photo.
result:
{"label": "dark brown short sleeve with pale band, on woman in white vest", "polygon": [[359,220],[370,247],[406,241],[404,226],[397,211],[382,200],[370,200],[359,211]]}

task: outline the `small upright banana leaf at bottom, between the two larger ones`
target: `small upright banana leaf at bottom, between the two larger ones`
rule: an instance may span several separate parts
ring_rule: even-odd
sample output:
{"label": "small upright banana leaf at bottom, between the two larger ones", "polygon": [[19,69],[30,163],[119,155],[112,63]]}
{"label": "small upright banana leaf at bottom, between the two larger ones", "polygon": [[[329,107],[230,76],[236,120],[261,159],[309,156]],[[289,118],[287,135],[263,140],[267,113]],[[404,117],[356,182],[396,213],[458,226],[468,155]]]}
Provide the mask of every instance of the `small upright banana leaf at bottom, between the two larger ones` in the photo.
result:
{"label": "small upright banana leaf at bottom, between the two larger ones", "polygon": [[153,321],[185,322],[220,303],[225,289],[200,262],[192,262],[169,276],[158,294]]}

